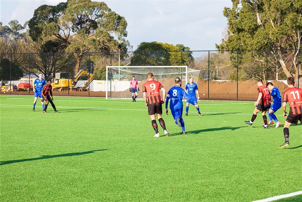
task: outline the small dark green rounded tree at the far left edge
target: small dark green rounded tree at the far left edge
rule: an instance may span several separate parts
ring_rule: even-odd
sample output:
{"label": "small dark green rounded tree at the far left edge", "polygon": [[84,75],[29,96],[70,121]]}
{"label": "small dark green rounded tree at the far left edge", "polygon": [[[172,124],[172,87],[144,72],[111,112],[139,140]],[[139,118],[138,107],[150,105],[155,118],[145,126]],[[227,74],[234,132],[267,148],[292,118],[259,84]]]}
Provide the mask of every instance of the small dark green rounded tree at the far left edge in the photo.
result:
{"label": "small dark green rounded tree at the far left edge", "polygon": [[22,71],[19,69],[18,64],[11,62],[7,58],[0,60],[0,80],[19,80],[22,75]]}

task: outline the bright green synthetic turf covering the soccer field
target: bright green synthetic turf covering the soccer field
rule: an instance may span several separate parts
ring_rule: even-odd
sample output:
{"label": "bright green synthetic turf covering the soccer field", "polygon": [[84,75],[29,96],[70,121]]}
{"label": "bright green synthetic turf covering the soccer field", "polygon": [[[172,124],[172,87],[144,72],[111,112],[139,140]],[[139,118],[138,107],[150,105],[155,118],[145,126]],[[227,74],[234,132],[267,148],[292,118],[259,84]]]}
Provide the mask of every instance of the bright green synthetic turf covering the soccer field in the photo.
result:
{"label": "bright green synthetic turf covering the soccer field", "polygon": [[302,190],[301,124],[280,150],[283,127],[264,129],[260,114],[244,123],[252,102],[200,101],[202,116],[190,105],[185,135],[164,115],[171,137],[159,126],[160,138],[142,100],[54,97],[61,113],[47,114],[32,103],[0,96],[1,201],[253,201]]}

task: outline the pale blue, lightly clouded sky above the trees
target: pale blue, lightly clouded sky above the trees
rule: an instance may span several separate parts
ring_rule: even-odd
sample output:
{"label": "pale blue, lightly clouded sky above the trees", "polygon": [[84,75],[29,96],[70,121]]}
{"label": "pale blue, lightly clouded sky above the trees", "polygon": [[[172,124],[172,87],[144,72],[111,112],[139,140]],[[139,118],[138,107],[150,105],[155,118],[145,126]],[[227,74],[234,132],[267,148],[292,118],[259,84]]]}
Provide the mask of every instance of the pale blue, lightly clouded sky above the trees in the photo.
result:
{"label": "pale blue, lightly clouded sky above the trees", "polygon": [[[11,20],[20,24],[30,20],[41,5],[57,5],[64,0],[0,0],[0,22]],[[97,1],[98,2],[98,1]],[[141,42],[158,41],[184,44],[191,50],[215,50],[227,27],[224,7],[232,7],[231,0],[111,0],[103,1],[117,14],[125,17],[127,40],[133,50]],[[194,53],[198,57],[199,53]]]}

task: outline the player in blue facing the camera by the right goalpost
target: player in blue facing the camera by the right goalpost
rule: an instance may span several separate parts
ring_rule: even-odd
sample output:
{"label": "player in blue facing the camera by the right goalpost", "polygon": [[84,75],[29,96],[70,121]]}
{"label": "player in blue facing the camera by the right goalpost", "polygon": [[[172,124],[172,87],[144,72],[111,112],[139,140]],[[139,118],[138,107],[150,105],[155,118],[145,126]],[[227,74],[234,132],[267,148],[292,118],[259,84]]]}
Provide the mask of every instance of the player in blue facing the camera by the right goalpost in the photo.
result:
{"label": "player in blue facing the camera by the right goalpost", "polygon": [[[188,93],[189,97],[186,99],[185,116],[188,115],[190,103],[196,107],[199,116],[201,116],[201,113],[199,111],[199,106],[197,104],[197,100],[199,100],[198,87],[197,87],[197,84],[194,83],[193,77],[189,78],[189,83],[187,83],[187,85],[186,85],[186,92]],[[197,98],[196,98],[196,96],[197,96]]]}

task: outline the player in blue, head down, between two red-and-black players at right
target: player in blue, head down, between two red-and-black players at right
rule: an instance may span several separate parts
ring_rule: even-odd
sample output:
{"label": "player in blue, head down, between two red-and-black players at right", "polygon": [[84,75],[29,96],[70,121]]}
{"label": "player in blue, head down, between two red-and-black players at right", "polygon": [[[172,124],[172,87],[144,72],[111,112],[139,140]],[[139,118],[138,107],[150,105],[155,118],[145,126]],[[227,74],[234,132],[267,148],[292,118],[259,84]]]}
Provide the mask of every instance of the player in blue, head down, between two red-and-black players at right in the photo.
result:
{"label": "player in blue, head down, between two red-and-black players at right", "polygon": [[271,82],[266,84],[268,90],[270,90],[270,95],[273,98],[273,104],[271,104],[270,109],[268,110],[269,122],[267,125],[271,125],[273,123],[273,119],[276,122],[276,127],[279,127],[281,124],[278,118],[275,115],[275,112],[281,108],[281,93],[277,87],[275,87]]}

